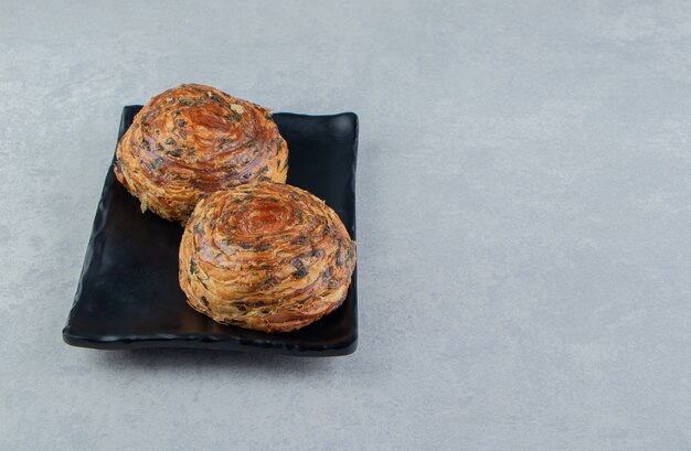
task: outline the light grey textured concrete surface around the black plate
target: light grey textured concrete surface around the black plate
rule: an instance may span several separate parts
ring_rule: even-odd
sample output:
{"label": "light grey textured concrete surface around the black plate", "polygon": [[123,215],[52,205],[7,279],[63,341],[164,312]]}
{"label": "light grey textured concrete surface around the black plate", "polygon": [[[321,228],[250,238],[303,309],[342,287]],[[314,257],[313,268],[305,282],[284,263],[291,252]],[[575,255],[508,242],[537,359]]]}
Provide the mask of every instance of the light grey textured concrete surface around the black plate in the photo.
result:
{"label": "light grey textured concrete surface around the black plate", "polygon": [[[181,82],[360,115],[355,354],[63,344]],[[0,95],[0,449],[691,449],[691,3],[6,0]]]}

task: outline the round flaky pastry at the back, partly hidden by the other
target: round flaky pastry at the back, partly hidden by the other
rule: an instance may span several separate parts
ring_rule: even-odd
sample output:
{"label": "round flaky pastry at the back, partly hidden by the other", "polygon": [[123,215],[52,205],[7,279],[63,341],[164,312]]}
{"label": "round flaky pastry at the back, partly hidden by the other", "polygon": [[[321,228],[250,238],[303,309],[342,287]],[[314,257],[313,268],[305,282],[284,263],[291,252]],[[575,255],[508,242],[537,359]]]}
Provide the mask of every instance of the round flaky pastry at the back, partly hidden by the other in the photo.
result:
{"label": "round flaky pastry at the back, partly hidden by the other", "polygon": [[270,110],[203,85],[151,98],[118,143],[115,174],[142,212],[184,223],[199,198],[256,181],[285,183],[288,147]]}

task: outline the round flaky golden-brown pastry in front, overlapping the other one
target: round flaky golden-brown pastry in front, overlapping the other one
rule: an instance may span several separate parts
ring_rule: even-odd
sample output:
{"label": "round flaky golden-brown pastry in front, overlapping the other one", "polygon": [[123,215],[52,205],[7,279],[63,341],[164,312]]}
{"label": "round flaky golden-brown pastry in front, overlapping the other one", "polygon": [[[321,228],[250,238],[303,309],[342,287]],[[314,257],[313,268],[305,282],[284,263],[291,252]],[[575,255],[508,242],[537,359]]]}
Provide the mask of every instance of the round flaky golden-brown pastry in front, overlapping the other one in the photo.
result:
{"label": "round flaky golden-brown pastry in front, overlapping the other one", "polygon": [[355,243],[323,201],[278,183],[202,198],[180,244],[180,286],[213,320],[290,332],[336,310],[355,267]]}

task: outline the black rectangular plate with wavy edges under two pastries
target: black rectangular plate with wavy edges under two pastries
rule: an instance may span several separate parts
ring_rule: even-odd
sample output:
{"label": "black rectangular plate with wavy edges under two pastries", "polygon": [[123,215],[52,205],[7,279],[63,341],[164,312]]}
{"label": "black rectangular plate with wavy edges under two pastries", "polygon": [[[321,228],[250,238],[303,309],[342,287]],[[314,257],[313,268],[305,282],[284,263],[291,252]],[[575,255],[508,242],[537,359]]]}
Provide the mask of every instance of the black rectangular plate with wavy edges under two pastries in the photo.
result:
{"label": "black rectangular plate with wavy edges under two pastries", "polygon": [[[141,106],[123,110],[119,138]],[[274,115],[288,142],[288,183],[323,198],[355,238],[358,117]],[[355,350],[357,272],[331,314],[287,334],[221,325],[188,307],[178,284],[179,224],[150,212],[111,169],[104,184],[74,305],[63,339],[102,350],[201,347],[330,356]]]}

